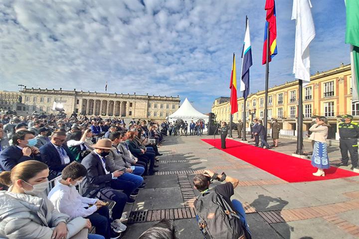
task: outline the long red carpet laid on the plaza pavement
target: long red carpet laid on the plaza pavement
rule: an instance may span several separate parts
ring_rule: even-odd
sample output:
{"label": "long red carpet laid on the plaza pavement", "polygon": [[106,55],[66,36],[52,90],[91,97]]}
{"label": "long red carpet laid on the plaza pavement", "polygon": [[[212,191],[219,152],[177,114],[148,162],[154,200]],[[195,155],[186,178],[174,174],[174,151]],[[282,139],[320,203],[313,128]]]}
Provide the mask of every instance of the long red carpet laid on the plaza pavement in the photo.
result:
{"label": "long red carpet laid on the plaza pavement", "polygon": [[312,173],[316,172],[317,169],[311,165],[311,161],[306,159],[279,153],[274,151],[275,149],[263,149],[231,139],[226,139],[226,149],[221,149],[220,139],[202,140],[289,183],[359,176],[358,173],[332,166],[324,170],[325,177],[316,177]]}

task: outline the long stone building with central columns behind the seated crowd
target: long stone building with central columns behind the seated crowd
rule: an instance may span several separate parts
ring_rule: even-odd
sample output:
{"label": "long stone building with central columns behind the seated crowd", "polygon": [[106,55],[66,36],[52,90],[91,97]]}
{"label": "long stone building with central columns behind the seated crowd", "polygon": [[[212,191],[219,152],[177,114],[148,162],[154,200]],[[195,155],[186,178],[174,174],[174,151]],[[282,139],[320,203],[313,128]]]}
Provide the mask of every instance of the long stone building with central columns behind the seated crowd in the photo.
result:
{"label": "long stone building with central columns behind the seated crowd", "polygon": [[[10,93],[10,92],[9,92]],[[67,115],[76,112],[86,116],[106,118],[123,117],[136,119],[164,120],[179,108],[179,97],[143,96],[130,94],[109,94],[83,91],[65,91],[24,88],[17,94],[21,109],[18,115],[30,115],[32,112],[50,114],[54,102],[61,106]],[[20,99],[20,100],[19,100]]]}

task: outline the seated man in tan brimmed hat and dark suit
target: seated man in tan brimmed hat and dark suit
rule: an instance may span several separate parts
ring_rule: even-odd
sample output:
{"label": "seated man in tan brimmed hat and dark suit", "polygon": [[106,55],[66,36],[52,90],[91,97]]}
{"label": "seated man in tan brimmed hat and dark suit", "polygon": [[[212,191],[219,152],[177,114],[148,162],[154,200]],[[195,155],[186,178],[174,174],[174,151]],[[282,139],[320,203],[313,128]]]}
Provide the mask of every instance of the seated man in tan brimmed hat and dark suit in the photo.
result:
{"label": "seated man in tan brimmed hat and dark suit", "polygon": [[[108,138],[103,138],[93,145],[95,148],[82,160],[81,164],[87,169],[87,175],[81,183],[82,194],[85,197],[97,197],[100,200],[112,200],[116,202],[112,209],[112,219],[119,222],[126,202],[130,200],[126,194],[117,191],[117,177],[120,177],[124,172],[116,170],[110,173],[110,169],[106,164],[105,157],[109,154],[112,148],[112,142]],[[131,201],[134,201],[132,199]]]}

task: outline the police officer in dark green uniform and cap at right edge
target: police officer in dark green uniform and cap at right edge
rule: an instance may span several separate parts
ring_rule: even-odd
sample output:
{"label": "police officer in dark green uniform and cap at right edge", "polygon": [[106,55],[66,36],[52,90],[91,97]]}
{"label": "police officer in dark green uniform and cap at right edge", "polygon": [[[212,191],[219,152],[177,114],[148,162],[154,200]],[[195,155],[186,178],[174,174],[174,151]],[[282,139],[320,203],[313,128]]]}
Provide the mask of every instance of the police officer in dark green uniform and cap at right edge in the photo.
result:
{"label": "police officer in dark green uniform and cap at right edge", "polygon": [[342,123],[339,124],[339,147],[342,154],[342,162],[337,163],[337,166],[348,166],[348,151],[351,154],[352,170],[358,168],[358,144],[359,124],[352,122],[353,116],[341,116]]}

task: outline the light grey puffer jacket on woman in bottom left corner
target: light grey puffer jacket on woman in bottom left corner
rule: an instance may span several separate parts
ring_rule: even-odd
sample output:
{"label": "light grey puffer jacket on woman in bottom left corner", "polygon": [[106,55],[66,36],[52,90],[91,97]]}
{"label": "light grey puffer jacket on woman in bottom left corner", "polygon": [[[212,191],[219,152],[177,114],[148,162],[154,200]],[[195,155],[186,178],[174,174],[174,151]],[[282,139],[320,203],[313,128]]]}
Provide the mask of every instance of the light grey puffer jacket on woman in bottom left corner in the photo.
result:
{"label": "light grey puffer jacket on woman in bottom left corner", "polygon": [[[78,234],[86,226],[86,219],[59,213],[45,192],[39,197],[21,193],[0,191],[0,238],[50,239],[60,222],[67,224],[67,239]],[[85,237],[87,238],[87,237]]]}

